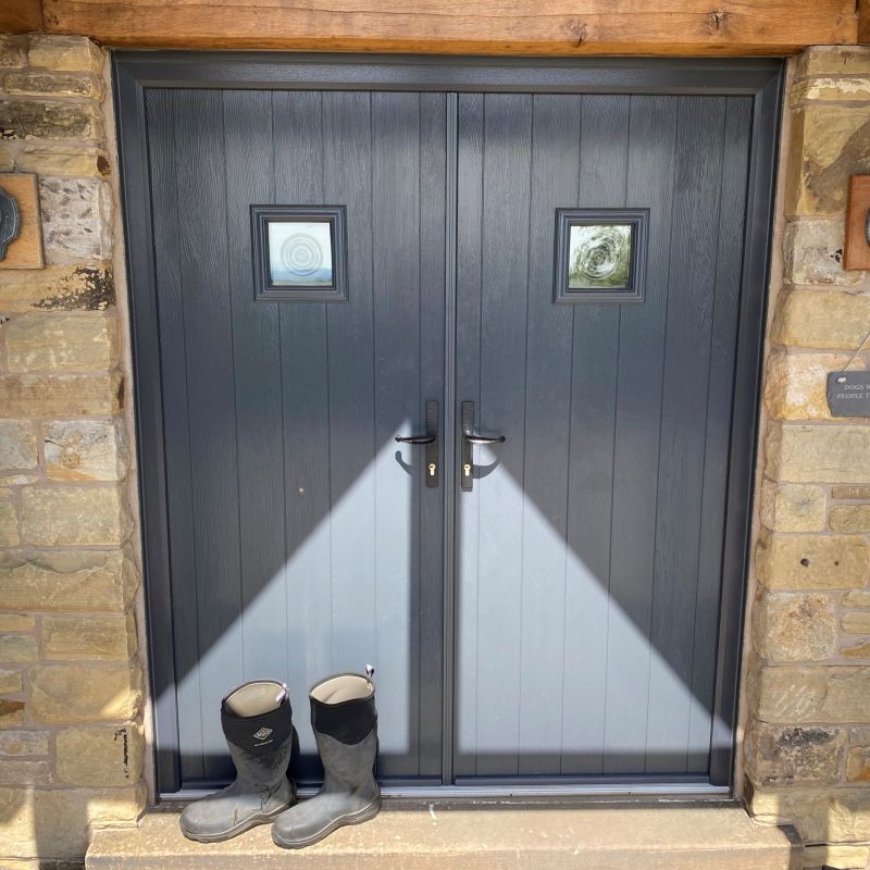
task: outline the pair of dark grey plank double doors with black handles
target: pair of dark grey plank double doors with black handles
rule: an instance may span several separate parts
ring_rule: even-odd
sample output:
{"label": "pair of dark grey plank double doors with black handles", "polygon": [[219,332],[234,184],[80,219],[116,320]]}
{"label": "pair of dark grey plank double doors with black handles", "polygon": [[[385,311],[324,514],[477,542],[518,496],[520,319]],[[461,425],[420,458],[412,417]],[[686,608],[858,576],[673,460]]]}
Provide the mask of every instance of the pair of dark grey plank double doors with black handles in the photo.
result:
{"label": "pair of dark grey plank double doors with black handles", "polygon": [[[710,782],[753,98],[144,112],[176,786],[231,776],[263,676],[316,781],[306,692],[366,663],[387,785]],[[343,208],[346,299],[256,298],[254,204]],[[583,209],[644,212],[642,300],[557,298]]]}

